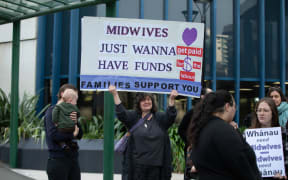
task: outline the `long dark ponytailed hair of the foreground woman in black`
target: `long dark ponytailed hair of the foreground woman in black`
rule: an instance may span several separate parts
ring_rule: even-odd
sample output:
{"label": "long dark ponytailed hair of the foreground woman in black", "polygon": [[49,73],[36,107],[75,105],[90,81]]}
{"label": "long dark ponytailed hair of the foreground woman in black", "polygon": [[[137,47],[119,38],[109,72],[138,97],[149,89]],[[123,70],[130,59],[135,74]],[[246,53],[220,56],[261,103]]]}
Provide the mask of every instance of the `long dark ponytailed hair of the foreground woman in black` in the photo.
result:
{"label": "long dark ponytailed hair of the foreground woman in black", "polygon": [[205,97],[196,104],[187,132],[187,140],[192,147],[197,145],[201,130],[213,117],[213,113],[224,112],[226,103],[233,106],[234,98],[229,92],[218,90],[205,95]]}

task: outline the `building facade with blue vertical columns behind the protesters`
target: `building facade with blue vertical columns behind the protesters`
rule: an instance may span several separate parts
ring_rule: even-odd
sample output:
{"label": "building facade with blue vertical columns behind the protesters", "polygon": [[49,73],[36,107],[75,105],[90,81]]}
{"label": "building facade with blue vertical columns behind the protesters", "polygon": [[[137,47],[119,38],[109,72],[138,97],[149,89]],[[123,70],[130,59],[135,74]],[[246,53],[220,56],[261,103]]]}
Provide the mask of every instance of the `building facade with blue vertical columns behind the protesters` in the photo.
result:
{"label": "building facade with blue vertical columns behind the protesters", "polygon": [[[204,86],[225,89],[235,96],[236,121],[241,125],[267,88],[280,86],[286,92],[287,7],[287,0],[120,0],[116,16],[204,22]],[[83,16],[105,17],[106,7],[90,6],[23,21],[30,24],[22,26],[21,33],[28,31],[30,36],[23,38],[21,34],[20,91],[39,94],[39,108],[57,101],[61,84],[79,87]],[[1,32],[9,29],[4,26],[0,26]],[[11,54],[11,38],[3,40],[5,36],[0,34],[0,52],[4,54],[0,57],[0,87],[9,92],[11,63],[6,59]],[[127,105],[133,104],[133,93],[121,95]],[[83,114],[103,113],[103,93],[81,91],[79,97]],[[159,105],[165,106],[165,100],[166,96],[159,96]],[[180,97],[178,102],[179,109],[185,111],[194,100]]]}

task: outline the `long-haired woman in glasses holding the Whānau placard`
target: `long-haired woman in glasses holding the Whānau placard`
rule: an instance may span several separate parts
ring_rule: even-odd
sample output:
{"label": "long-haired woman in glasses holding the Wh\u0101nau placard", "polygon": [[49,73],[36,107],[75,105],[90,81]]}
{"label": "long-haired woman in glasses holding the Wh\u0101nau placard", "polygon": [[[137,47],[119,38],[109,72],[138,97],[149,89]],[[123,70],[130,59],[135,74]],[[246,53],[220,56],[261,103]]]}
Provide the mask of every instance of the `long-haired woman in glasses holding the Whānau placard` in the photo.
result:
{"label": "long-haired woman in glasses holding the Wh\u0101nau placard", "polygon": [[[251,128],[271,128],[271,127],[280,127],[278,121],[278,111],[276,104],[271,98],[262,98],[256,104],[255,116],[252,119]],[[282,128],[283,129],[283,128]],[[285,147],[285,136],[283,140],[283,147]],[[284,149],[284,148],[283,148]],[[285,154],[285,151],[284,151]],[[284,156],[286,161],[286,158]],[[287,168],[286,168],[287,169]],[[281,176],[280,174],[276,174],[274,177],[265,177],[265,180],[269,179],[287,179],[286,176]]]}

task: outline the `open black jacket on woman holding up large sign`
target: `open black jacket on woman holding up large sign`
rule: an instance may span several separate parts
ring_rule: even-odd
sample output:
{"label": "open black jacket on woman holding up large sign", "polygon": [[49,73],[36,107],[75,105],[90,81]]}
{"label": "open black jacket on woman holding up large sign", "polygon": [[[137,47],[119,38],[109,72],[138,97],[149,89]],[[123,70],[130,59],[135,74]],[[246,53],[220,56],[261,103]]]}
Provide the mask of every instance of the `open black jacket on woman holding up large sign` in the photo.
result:
{"label": "open black jacket on woman holding up large sign", "polygon": [[[122,104],[116,106],[116,115],[120,121],[122,121],[125,126],[130,129],[141,117],[136,111],[128,111],[124,108]],[[174,123],[177,112],[175,107],[168,107],[165,112],[156,112],[152,118],[158,122],[159,127],[165,133],[165,143],[164,143],[164,158],[163,167],[161,170],[161,180],[169,180],[172,175],[172,153],[170,139],[168,136],[168,128]],[[123,180],[133,180],[133,158],[132,158],[132,142],[133,133],[129,138],[128,146],[124,152],[123,162],[122,162],[122,179]]]}

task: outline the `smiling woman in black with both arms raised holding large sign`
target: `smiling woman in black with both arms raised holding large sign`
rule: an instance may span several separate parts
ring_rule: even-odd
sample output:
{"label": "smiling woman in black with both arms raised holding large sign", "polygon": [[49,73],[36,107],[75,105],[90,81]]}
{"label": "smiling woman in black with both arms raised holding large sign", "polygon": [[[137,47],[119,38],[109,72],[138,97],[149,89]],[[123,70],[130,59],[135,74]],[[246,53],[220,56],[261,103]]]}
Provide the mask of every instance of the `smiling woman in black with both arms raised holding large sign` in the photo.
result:
{"label": "smiling woman in black with both arms raised holding large sign", "polygon": [[172,155],[167,130],[177,115],[174,106],[177,91],[171,91],[166,112],[157,112],[152,94],[139,93],[135,110],[128,111],[121,103],[116,87],[109,86],[109,92],[113,95],[118,119],[129,131],[134,129],[124,151],[122,179],[169,180]]}

